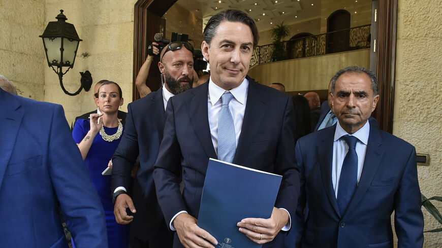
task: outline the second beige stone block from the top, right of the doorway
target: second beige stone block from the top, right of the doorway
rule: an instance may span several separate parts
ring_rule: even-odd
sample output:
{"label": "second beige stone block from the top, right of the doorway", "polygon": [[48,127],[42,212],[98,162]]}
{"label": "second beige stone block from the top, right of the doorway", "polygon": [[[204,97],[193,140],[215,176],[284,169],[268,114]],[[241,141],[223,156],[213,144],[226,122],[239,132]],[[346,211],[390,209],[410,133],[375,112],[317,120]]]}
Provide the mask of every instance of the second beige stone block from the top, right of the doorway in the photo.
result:
{"label": "second beige stone block from the top, right of the doorway", "polygon": [[400,40],[396,76],[401,80],[428,81],[442,78],[442,39],[407,38]]}

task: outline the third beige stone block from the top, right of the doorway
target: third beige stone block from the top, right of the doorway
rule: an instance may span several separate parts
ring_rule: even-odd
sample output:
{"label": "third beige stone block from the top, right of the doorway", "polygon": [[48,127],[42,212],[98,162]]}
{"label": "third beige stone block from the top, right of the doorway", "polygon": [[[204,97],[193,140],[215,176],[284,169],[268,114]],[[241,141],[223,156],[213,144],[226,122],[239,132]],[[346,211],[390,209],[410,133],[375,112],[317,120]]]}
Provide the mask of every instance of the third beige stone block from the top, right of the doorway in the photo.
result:
{"label": "third beige stone block from the top, right of the doorway", "polygon": [[[397,87],[398,120],[442,123],[442,81],[399,81]],[[439,133],[442,134],[442,133]]]}

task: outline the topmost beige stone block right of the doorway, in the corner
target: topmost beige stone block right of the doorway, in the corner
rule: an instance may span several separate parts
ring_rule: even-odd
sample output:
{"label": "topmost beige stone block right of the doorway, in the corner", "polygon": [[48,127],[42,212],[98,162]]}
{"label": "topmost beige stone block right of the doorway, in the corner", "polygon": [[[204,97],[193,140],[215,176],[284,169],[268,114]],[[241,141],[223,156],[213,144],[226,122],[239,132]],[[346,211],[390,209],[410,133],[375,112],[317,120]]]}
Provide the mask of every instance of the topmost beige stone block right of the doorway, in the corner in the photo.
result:
{"label": "topmost beige stone block right of the doorway, in the corner", "polygon": [[399,1],[398,26],[401,37],[442,37],[440,1]]}

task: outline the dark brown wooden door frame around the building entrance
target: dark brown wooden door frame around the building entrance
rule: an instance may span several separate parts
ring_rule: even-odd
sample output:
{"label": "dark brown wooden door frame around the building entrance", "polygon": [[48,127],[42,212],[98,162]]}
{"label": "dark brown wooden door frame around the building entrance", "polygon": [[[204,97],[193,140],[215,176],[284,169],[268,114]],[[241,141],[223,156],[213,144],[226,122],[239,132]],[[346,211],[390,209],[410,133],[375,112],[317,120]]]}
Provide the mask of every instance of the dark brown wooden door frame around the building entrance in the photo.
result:
{"label": "dark brown wooden door frame around the building entrance", "polygon": [[[377,34],[372,34],[371,65],[379,82],[381,98],[377,103],[373,116],[377,119],[378,127],[382,130],[393,132],[393,110],[396,70],[396,34],[397,34],[397,5],[398,0],[373,0],[378,1],[376,10]],[[135,4],[134,15],[134,63],[133,63],[133,100],[138,99],[135,80],[144,62],[141,46],[146,37],[142,37],[144,28],[143,15],[146,10],[163,16],[175,4],[176,0],[138,0]],[[373,26],[373,25],[372,25]],[[153,35],[152,35],[153,37]],[[375,40],[375,42],[374,42]],[[376,49],[373,53],[373,49]],[[374,66],[374,67],[373,67]]]}

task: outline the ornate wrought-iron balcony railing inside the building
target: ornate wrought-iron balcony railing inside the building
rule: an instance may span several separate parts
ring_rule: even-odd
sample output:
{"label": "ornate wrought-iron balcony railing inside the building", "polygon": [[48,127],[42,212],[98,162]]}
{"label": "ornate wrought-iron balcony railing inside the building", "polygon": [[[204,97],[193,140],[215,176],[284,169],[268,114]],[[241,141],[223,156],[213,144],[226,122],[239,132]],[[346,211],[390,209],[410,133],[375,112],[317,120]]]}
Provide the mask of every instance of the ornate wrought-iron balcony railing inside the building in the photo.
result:
{"label": "ornate wrought-iron balcony railing inside the building", "polygon": [[[277,46],[282,51],[275,51],[275,44],[257,46],[251,56],[250,66],[369,48],[370,37],[371,25],[365,25],[285,41],[281,46]],[[275,56],[275,54],[283,55]]]}

